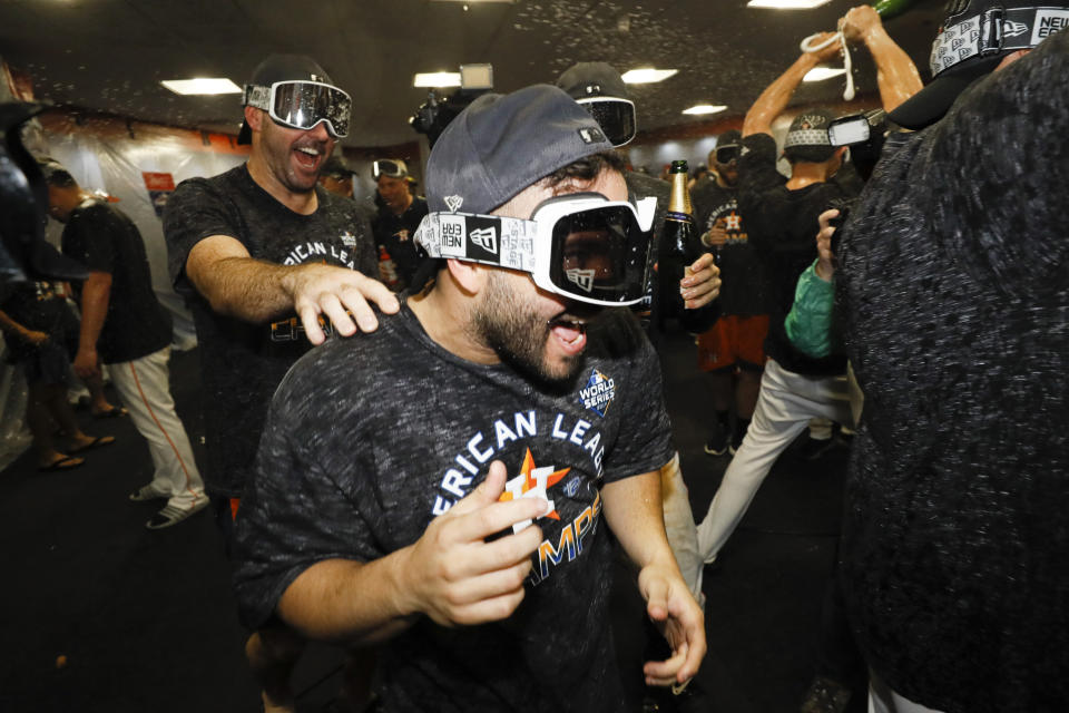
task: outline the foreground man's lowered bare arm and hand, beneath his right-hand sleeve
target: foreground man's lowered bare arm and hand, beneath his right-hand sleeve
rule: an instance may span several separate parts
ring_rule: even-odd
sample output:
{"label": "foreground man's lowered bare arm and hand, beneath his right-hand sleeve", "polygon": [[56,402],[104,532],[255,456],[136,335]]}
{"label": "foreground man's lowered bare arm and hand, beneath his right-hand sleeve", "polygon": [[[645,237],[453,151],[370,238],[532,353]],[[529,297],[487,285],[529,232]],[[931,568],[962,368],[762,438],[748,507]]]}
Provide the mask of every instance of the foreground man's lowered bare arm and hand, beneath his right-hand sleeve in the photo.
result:
{"label": "foreground man's lowered bare arm and hand, beneath his right-hand sleeve", "polygon": [[646,683],[685,683],[698,673],[705,657],[705,617],[668,546],[660,473],[653,471],[610,482],[602,488],[601,500],[612,534],[638,567],[638,588],[646,599],[646,613],[671,646],[668,661],[646,663]]}

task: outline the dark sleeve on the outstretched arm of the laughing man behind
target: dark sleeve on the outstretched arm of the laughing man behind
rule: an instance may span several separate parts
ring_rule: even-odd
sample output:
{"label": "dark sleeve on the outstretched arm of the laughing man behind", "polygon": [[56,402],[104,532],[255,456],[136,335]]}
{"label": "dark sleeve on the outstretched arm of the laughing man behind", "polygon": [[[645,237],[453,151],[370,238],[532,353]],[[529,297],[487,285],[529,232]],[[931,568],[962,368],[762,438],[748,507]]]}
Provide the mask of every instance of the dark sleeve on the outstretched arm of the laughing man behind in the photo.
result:
{"label": "dark sleeve on the outstretched arm of the laughing man behind", "polygon": [[186,279],[189,251],[210,235],[241,240],[241,229],[229,203],[204,178],[183,180],[164,208],[167,271],[179,294],[189,294],[194,290]]}

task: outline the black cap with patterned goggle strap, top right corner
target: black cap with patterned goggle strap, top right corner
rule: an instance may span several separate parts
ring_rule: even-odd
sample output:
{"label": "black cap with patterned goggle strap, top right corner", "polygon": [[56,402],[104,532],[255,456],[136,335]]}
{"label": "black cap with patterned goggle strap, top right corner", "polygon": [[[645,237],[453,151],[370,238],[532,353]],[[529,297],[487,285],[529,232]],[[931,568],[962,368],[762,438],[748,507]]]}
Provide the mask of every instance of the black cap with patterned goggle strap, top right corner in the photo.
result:
{"label": "black cap with patterned goggle strap, top right corner", "polygon": [[1069,0],[951,0],[932,42],[932,81],[887,116],[899,126],[934,124],[1002,59],[1069,27]]}

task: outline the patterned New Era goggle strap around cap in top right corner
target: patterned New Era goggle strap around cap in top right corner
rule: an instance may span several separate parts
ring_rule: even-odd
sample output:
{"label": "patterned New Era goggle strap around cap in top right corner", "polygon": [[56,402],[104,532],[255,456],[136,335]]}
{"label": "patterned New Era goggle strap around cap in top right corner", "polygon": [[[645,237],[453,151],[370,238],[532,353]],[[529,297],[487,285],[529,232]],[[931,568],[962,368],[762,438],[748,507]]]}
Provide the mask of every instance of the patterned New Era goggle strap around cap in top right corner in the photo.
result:
{"label": "patterned New Era goggle strap around cap in top right corner", "polygon": [[935,38],[929,58],[932,76],[972,57],[1036,47],[1067,26],[1069,10],[1066,8],[991,8],[944,28]]}

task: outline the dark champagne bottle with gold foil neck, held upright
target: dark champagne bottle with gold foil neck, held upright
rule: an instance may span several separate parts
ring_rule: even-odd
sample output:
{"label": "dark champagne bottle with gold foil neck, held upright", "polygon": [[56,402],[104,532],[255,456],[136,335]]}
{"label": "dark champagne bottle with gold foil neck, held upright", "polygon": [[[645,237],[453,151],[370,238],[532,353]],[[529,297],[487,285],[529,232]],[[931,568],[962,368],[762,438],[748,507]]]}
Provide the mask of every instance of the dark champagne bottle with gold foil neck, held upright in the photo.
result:
{"label": "dark champagne bottle with gold foil neck, held upright", "polygon": [[669,170],[671,194],[668,212],[660,233],[658,275],[660,280],[661,310],[665,316],[675,316],[688,332],[707,330],[713,322],[715,303],[697,310],[687,310],[679,294],[679,281],[686,268],[702,256],[702,243],[694,225],[694,208],[687,191],[687,162],[674,160]]}

